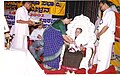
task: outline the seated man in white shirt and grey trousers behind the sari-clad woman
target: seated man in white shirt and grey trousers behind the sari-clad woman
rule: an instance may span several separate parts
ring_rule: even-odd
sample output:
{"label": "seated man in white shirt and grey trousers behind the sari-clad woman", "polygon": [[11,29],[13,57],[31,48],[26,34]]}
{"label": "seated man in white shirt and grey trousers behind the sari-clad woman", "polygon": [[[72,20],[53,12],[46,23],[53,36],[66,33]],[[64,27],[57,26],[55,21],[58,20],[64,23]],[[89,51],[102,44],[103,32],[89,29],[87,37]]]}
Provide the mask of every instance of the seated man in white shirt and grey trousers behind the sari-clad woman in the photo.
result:
{"label": "seated man in white shirt and grey trousers behind the sari-clad woman", "polygon": [[38,24],[38,28],[34,29],[30,35],[30,40],[34,42],[29,47],[30,52],[32,53],[33,57],[40,61],[40,56],[43,54],[43,32],[44,32],[43,24]]}

